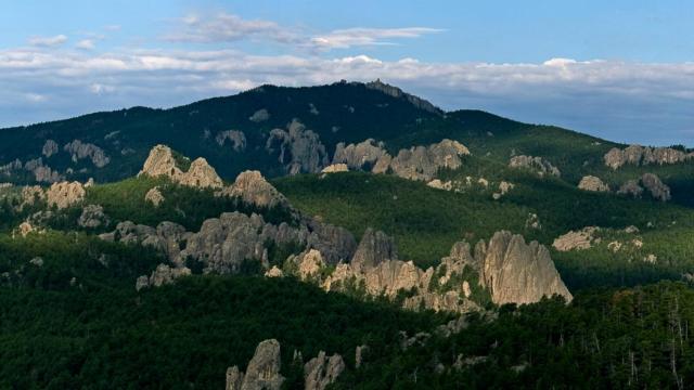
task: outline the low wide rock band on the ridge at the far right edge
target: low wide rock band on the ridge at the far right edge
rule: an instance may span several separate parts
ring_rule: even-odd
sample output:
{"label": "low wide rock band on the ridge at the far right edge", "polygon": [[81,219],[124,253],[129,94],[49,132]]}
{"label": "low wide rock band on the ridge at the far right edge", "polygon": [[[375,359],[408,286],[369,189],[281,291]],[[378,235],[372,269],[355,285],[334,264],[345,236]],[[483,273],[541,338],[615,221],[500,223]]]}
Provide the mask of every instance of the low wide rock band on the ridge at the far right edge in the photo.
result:
{"label": "low wide rock band on the ridge at the far right edge", "polygon": [[694,153],[684,153],[671,147],[648,147],[629,145],[624,150],[613,147],[605,154],[605,166],[618,169],[624,165],[647,166],[683,162],[694,157]]}

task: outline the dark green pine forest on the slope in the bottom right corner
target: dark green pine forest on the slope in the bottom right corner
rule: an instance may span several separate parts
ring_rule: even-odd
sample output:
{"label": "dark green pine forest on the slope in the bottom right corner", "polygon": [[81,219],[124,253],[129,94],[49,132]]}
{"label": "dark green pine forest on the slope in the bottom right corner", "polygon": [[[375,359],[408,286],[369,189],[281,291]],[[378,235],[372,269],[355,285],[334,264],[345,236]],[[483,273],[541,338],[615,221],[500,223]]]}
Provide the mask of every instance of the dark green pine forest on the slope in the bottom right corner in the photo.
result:
{"label": "dark green pine forest on the slope in the bottom right corner", "polygon": [[[692,321],[694,289],[667,282],[581,292],[569,306],[562,299],[505,306],[496,321],[473,316],[451,338],[396,355],[370,354],[365,367],[342,377],[337,388],[689,388]],[[481,359],[455,369],[459,355],[461,362]]]}

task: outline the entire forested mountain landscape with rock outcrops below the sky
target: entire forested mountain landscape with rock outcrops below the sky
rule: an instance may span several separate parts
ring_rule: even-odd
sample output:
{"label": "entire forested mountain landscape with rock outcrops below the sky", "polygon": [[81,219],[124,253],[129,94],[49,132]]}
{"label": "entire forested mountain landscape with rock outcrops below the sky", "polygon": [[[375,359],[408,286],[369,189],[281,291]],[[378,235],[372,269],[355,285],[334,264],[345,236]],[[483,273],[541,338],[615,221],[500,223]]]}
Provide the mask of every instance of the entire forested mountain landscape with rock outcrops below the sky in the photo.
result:
{"label": "entire forested mountain landscape with rock outcrops below the sky", "polygon": [[681,146],[447,113],[378,80],[0,141],[2,388],[694,379]]}

